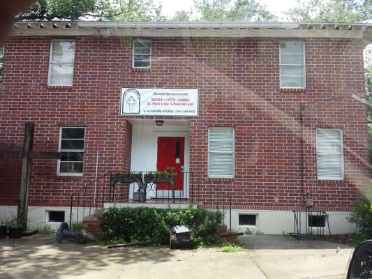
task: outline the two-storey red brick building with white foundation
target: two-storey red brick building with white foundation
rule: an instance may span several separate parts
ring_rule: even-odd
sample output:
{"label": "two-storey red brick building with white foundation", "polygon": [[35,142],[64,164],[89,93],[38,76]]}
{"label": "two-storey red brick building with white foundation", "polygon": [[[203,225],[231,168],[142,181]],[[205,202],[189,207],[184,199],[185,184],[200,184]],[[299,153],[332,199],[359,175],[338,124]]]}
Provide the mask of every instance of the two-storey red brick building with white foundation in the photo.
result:
{"label": "two-storey red brick building with white foundation", "polygon": [[[161,169],[177,172],[175,202],[158,184],[147,206],[231,208],[233,229],[267,234],[292,232],[292,211],[309,208],[329,218],[312,227],[350,231],[345,218],[369,181],[371,38],[366,24],[14,24],[0,149],[22,149],[31,121],[34,150],[61,153],[32,160],[29,221],[68,220],[74,192],[80,220],[77,199],[107,206],[107,172]],[[20,169],[0,158],[0,214],[16,211]],[[118,187],[115,202],[137,204],[135,183]]]}

